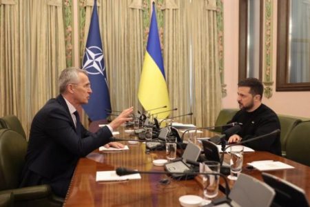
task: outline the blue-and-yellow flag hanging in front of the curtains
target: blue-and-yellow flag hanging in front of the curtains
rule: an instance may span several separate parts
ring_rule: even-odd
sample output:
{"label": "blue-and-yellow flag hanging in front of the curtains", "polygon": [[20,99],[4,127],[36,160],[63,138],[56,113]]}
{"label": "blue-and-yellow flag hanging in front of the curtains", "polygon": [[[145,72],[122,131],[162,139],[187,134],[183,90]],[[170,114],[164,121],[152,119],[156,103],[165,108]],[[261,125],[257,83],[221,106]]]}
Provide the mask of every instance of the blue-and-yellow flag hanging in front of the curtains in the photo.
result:
{"label": "blue-and-yellow flag hanging in front of the curtains", "polygon": [[[152,110],[152,114],[171,109],[154,3],[151,25],[149,26],[149,37],[147,39],[147,50],[138,87],[138,99],[145,110],[167,106],[167,108]],[[169,116],[169,113],[158,114],[158,119],[165,119],[165,117]]]}

